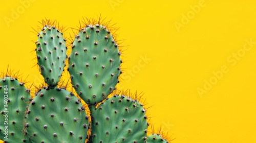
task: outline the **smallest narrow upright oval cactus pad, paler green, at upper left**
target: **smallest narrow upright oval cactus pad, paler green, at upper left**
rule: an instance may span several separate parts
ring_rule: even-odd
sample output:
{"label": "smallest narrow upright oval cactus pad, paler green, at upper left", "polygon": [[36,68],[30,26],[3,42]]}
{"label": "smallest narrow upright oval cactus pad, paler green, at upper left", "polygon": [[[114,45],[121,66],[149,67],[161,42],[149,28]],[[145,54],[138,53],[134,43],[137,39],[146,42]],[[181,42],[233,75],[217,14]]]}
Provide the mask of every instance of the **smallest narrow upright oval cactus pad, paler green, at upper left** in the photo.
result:
{"label": "smallest narrow upright oval cactus pad, paler green, at upper left", "polygon": [[54,26],[46,25],[36,41],[36,55],[39,70],[49,86],[59,82],[67,58],[66,40]]}

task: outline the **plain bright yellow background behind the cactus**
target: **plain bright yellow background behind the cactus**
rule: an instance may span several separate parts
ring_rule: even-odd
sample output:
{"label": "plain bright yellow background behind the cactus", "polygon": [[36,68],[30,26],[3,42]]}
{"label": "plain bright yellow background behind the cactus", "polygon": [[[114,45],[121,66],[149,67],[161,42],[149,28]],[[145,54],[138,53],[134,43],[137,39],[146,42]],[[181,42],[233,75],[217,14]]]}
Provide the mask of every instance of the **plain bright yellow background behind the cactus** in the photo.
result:
{"label": "plain bright yellow background behind the cactus", "polygon": [[162,125],[175,143],[256,142],[255,1],[2,0],[0,7],[0,71],[9,65],[38,85],[32,27],[46,17],[76,28],[82,17],[101,14],[125,45],[118,87],[144,93],[156,130]]}

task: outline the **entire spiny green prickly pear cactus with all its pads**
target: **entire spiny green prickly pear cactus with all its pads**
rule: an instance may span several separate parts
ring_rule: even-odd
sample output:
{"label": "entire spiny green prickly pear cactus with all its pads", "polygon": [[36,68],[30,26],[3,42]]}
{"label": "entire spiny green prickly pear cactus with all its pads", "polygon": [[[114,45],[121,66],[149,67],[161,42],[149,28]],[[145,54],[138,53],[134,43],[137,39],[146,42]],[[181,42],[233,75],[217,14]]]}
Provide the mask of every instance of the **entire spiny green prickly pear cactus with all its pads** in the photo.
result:
{"label": "entire spiny green prickly pear cactus with all its pads", "polygon": [[[30,90],[15,75],[6,74],[0,79],[4,103],[0,119],[8,121],[8,125],[0,123],[0,139],[41,143],[168,142],[160,134],[147,136],[148,118],[139,100],[125,93],[110,96],[119,82],[122,60],[108,23],[100,18],[84,20],[72,40],[71,54],[67,54],[62,28],[56,21],[42,21],[35,51],[47,85],[39,87],[32,99]],[[66,63],[74,92],[60,85]],[[90,111],[86,112],[88,107]]]}

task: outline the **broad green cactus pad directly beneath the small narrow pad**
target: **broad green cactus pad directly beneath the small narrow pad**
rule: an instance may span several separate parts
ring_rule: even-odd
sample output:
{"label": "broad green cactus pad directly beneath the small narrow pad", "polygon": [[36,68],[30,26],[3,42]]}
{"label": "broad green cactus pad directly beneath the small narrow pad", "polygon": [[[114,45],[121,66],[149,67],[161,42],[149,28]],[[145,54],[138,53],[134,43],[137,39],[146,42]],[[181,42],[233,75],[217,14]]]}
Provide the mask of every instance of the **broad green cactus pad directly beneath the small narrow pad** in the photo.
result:
{"label": "broad green cactus pad directly beneath the small narrow pad", "polygon": [[87,138],[89,121],[84,107],[63,88],[37,92],[26,121],[32,142],[84,142]]}

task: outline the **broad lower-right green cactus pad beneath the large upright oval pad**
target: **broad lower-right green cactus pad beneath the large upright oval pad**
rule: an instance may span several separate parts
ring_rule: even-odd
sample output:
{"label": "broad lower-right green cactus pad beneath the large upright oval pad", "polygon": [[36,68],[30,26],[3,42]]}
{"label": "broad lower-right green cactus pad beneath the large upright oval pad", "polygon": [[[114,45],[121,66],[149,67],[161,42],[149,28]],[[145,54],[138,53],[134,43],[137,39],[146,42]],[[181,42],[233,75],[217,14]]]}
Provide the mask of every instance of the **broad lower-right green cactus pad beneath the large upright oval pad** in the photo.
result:
{"label": "broad lower-right green cactus pad beneath the large upright oval pad", "polygon": [[145,142],[147,117],[142,104],[114,96],[91,113],[91,142]]}

